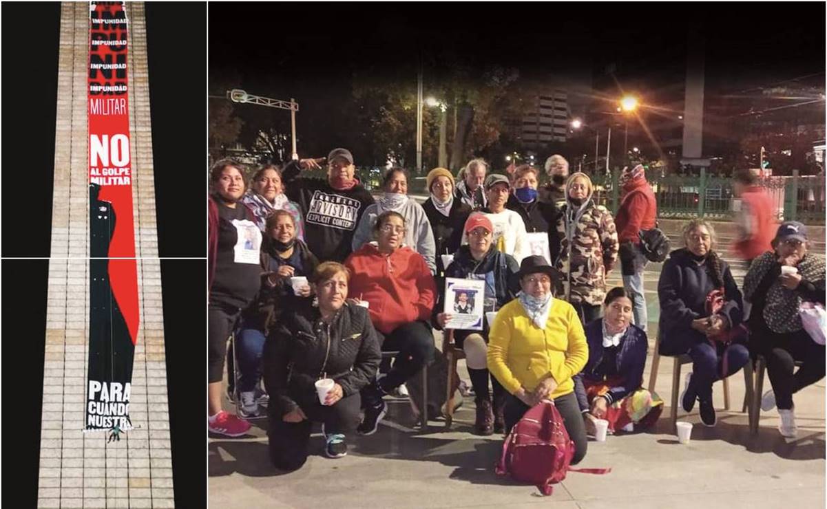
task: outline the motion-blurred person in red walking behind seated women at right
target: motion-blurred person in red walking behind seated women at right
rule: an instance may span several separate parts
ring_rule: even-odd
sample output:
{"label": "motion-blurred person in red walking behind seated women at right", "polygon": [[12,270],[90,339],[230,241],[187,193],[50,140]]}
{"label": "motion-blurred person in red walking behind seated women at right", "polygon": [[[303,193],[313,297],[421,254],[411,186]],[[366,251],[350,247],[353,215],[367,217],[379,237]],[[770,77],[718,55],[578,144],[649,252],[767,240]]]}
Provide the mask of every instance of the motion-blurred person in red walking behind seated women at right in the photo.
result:
{"label": "motion-blurred person in red walking behind seated women at right", "polygon": [[752,170],[740,169],[733,175],[733,191],[741,197],[741,212],[736,220],[738,237],[733,250],[747,264],[770,249],[772,235],[777,229],[772,200],[767,190],[758,185]]}

